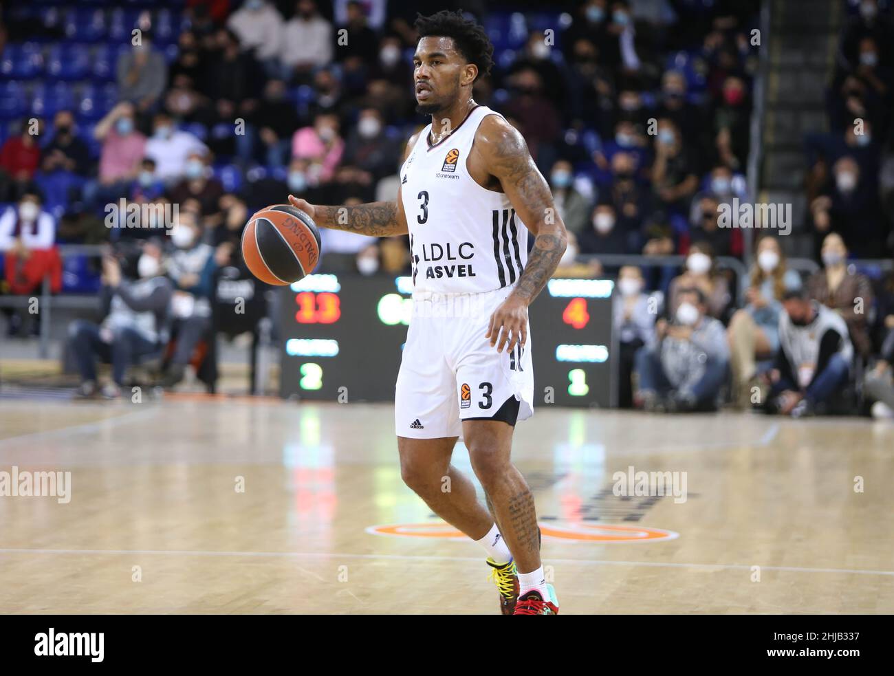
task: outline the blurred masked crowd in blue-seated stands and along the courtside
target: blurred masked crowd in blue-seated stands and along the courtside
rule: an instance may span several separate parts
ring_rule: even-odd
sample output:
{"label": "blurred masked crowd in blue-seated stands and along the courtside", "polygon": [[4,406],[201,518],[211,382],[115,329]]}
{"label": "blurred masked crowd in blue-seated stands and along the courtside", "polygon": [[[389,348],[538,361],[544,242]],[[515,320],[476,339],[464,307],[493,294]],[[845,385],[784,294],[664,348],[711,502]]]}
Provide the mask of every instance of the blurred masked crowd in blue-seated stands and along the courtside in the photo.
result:
{"label": "blurred masked crowd in blue-seated stands and along the courtside", "polygon": [[[424,124],[410,87],[412,22],[458,8],[133,5],[33,4],[4,14],[0,31],[5,291],[33,293],[49,276],[55,292],[102,294],[105,320],[77,322],[69,339],[90,396],[97,357],[114,364],[105,394],[120,395],[126,367],[172,329],[180,340],[164,384],[180,382],[211,321],[215,270],[240,266],[255,209],[289,193],[324,204],[395,198],[402,144]],[[784,242],[765,236],[746,280],[722,265],[743,259],[745,242],[718,207],[755,198],[746,169],[759,2],[487,5],[462,4],[494,44],[475,97],[519,128],[552,187],[569,230],[557,275],[617,275],[620,404],[804,416],[878,402],[877,415],[894,415],[894,277],[871,280],[848,261],[891,252],[887,5],[847,3],[831,132],[806,139],[806,227],[822,269],[803,278]],[[409,269],[406,238],[323,237],[321,271]],[[61,243],[107,243],[110,253],[93,270],[59,258]],[[619,268],[601,254],[686,258],[682,270]],[[33,330],[7,312],[11,334]]]}

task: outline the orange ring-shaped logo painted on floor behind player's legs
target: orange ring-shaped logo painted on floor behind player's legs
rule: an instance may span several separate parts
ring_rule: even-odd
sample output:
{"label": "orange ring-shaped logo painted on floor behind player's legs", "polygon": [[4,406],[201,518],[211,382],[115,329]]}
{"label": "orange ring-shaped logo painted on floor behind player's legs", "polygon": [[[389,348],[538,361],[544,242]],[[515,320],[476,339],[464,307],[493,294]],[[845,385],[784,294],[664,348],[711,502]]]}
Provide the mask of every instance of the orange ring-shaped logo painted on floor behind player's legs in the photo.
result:
{"label": "orange ring-shaped logo painted on floor behind player's legs", "polygon": [[[544,538],[565,542],[662,542],[679,537],[679,533],[645,526],[613,526],[580,521],[554,521],[538,524]],[[388,523],[367,528],[370,535],[388,537],[437,537],[445,540],[468,540],[468,536],[443,521],[427,523]]]}

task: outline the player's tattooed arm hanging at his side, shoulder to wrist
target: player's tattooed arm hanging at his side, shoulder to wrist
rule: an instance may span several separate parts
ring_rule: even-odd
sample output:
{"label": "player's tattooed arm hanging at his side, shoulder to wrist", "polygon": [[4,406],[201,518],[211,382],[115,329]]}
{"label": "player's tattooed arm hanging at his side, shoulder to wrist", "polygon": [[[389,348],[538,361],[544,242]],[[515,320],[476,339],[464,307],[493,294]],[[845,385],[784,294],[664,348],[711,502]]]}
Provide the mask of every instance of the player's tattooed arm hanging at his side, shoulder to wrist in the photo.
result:
{"label": "player's tattooed arm hanging at his side, shoulder to wrist", "polygon": [[565,224],[519,131],[495,115],[485,117],[479,130],[476,141],[484,141],[481,150],[487,170],[500,181],[516,214],[535,235],[534,248],[512,294],[530,303],[559,266],[568,243]]}

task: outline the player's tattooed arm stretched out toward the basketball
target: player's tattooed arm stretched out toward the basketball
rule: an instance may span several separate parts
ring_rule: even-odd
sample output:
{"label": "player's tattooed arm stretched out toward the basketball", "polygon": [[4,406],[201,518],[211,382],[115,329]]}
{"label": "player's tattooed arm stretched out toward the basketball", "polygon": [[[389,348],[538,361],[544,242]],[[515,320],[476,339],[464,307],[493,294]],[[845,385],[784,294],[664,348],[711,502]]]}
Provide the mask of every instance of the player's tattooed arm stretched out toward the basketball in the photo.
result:
{"label": "player's tattooed arm stretched out toward the basketball", "polygon": [[[409,138],[403,161],[406,161],[409,151],[416,143],[417,136],[418,134],[413,134]],[[323,207],[310,204],[306,199],[299,199],[293,195],[289,196],[289,202],[293,207],[307,212],[314,219],[314,223],[321,228],[357,232],[372,237],[391,237],[409,232],[407,216],[403,213],[400,188],[398,188],[397,200],[393,202],[368,202],[351,207]]]}

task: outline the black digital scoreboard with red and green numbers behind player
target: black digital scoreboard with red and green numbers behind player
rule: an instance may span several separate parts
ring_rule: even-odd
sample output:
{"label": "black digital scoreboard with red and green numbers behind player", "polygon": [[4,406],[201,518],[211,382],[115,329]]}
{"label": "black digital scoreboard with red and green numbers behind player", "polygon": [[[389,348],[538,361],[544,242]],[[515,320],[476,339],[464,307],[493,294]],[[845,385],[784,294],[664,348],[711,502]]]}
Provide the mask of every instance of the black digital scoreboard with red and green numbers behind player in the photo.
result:
{"label": "black digital scoreboard with red and green numbers behind player", "polygon": [[[535,408],[615,405],[611,280],[552,279],[530,308]],[[393,401],[409,276],[308,275],[280,299],[280,394]]]}

